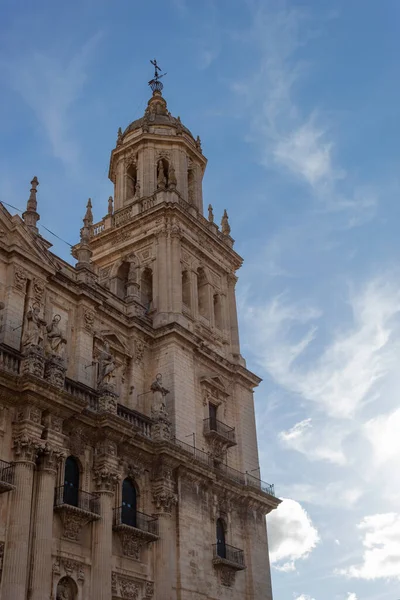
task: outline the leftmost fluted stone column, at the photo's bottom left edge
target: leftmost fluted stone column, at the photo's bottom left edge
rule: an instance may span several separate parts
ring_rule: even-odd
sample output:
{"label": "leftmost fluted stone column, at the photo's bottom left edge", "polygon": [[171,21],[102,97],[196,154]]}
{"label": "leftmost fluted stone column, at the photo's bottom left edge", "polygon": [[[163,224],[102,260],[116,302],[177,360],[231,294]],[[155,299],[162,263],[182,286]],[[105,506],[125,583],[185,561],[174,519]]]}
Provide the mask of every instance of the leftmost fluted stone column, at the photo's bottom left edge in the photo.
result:
{"label": "leftmost fluted stone column, at the photo's bottom left edge", "polygon": [[11,492],[2,600],[26,600],[33,472],[37,451],[36,442],[26,434],[14,440],[15,490]]}

